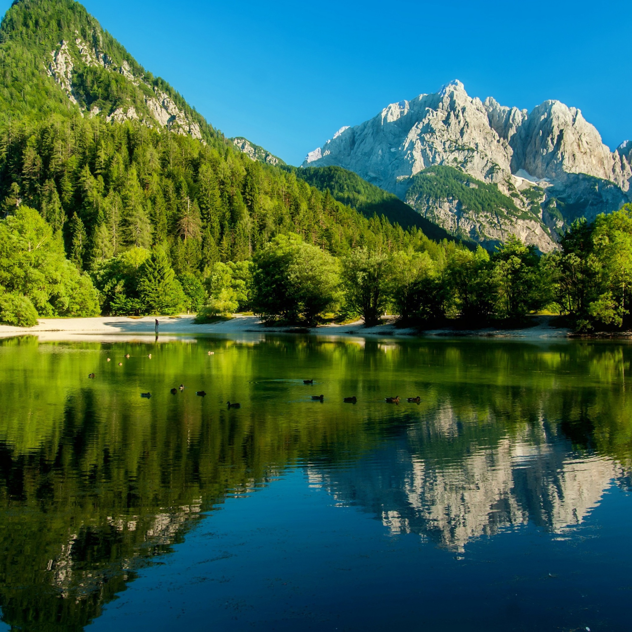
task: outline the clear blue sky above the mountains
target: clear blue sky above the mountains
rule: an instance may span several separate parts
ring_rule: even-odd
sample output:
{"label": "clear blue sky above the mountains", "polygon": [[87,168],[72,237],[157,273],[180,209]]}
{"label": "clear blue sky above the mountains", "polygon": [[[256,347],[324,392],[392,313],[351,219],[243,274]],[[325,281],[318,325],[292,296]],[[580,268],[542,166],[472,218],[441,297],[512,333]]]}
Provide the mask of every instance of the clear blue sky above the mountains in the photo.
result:
{"label": "clear blue sky above the mountains", "polygon": [[504,105],[579,107],[612,149],[632,138],[630,0],[84,4],[212,125],[291,164],[454,78]]}

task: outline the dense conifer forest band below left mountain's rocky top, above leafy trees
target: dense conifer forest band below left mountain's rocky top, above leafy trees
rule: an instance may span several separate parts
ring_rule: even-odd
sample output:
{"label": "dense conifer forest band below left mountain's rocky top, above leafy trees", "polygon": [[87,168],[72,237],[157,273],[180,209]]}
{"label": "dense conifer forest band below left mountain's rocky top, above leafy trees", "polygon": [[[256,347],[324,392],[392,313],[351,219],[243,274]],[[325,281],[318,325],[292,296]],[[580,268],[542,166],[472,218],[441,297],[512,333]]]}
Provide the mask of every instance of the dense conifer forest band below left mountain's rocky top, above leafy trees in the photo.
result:
{"label": "dense conifer forest band below left mountain's rocky top, above leafy trees", "polygon": [[[22,200],[63,228],[68,254],[87,269],[127,248],[166,244],[177,274],[205,277],[218,260],[247,260],[288,233],[334,255],[356,245],[432,244],[417,229],[367,219],[232,147],[141,123],[47,118],[0,128],[0,147],[0,197]],[[40,167],[27,182],[33,156]]]}

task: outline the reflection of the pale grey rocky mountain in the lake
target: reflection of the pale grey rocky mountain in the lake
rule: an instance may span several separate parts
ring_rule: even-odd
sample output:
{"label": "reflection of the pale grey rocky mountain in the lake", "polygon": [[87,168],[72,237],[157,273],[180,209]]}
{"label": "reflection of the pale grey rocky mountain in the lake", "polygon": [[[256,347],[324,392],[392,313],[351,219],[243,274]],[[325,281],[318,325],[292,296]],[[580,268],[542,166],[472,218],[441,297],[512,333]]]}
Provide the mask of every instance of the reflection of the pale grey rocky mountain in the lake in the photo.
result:
{"label": "reflection of the pale grey rocky mountain in the lake", "polygon": [[573,451],[568,441],[547,435],[544,423],[494,446],[473,444],[461,459],[437,461],[428,437],[437,430],[458,436],[457,420],[444,423],[450,414],[438,411],[435,420],[409,428],[354,466],[309,468],[310,483],[375,514],[391,533],[417,533],[463,551],[471,538],[528,521],[562,533],[580,524],[624,476],[614,459]]}

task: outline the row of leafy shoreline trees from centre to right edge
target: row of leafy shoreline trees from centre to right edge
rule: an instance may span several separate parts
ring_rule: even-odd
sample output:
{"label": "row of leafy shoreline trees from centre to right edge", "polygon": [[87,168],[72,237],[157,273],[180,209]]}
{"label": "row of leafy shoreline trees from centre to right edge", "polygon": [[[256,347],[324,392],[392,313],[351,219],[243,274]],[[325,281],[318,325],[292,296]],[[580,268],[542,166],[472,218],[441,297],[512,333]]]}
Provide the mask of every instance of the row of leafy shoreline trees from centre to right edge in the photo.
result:
{"label": "row of leafy shoreline trees from centre to right edge", "polygon": [[442,241],[390,251],[358,246],[333,257],[283,235],[248,264],[218,270],[203,313],[252,309],[269,322],[309,325],[334,312],[375,325],[389,312],[402,325],[483,327],[523,325],[550,310],[582,332],[632,325],[629,204],[592,224],[574,222],[560,250],[542,256],[510,236],[493,253]]}

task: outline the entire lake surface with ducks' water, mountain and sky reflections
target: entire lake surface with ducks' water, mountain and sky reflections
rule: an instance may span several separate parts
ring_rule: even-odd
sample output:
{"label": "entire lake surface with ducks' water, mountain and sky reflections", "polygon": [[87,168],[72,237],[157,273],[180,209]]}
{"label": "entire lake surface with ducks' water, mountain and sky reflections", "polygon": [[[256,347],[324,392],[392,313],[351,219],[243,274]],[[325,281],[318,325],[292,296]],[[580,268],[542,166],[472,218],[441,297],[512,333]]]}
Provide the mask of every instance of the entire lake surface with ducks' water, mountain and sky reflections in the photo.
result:
{"label": "entire lake surface with ducks' water, mountain and sky reflections", "polygon": [[627,631],[631,359],[0,341],[0,629]]}

